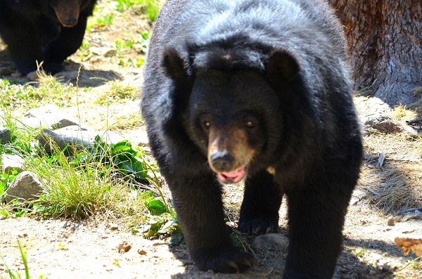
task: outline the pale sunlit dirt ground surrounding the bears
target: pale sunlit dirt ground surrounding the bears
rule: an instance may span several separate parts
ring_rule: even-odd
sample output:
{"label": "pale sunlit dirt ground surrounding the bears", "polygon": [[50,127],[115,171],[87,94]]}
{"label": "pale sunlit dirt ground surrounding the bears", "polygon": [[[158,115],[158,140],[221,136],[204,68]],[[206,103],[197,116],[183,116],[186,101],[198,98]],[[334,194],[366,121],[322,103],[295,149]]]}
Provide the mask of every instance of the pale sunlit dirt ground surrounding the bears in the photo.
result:
{"label": "pale sunlit dirt ground surrounding the bears", "polygon": [[[145,20],[127,19],[131,17],[137,15],[116,15],[109,27],[87,32],[86,40],[92,46],[108,48],[116,38],[128,36],[127,32],[122,32],[122,28],[151,30]],[[0,45],[0,51],[3,48]],[[119,61],[136,56],[143,54],[134,50],[122,51],[118,57],[91,53],[90,58],[82,61],[84,68],[81,77],[85,78],[87,84],[82,82],[81,86],[96,86],[101,90],[101,83],[93,85],[93,79],[89,77],[123,79],[140,85],[141,68],[119,65],[122,64]],[[75,53],[70,60],[81,63],[81,57],[80,53]],[[13,69],[4,51],[0,55],[0,66]],[[72,72],[75,67],[77,65],[71,63],[67,70]],[[10,75],[1,78],[15,79]],[[20,79],[25,80],[25,77]],[[113,117],[139,112],[139,100],[101,106],[89,101],[91,96],[84,96],[83,91],[81,94],[85,102],[79,106],[79,117],[95,129],[103,129],[106,119],[113,122]],[[366,102],[366,98],[357,98],[363,114],[367,113]],[[78,116],[75,107],[63,110]],[[142,126],[120,133],[135,144],[145,141]],[[421,220],[399,221],[405,213],[404,209],[422,206],[421,194],[414,193],[413,200],[410,199],[408,205],[402,207],[400,198],[393,207],[381,199],[384,197],[381,188],[390,181],[392,170],[402,170],[402,181],[409,191],[418,189],[411,186],[421,181],[421,152],[412,141],[400,134],[371,134],[365,137],[365,148],[362,179],[346,216],[344,247],[334,278],[422,278],[420,260],[412,261],[416,258],[414,254],[405,257],[401,249],[394,245],[394,238],[398,235],[422,235]],[[385,161],[383,167],[379,167],[377,162],[382,152],[385,153]],[[226,206],[236,209],[241,204],[243,189],[239,186],[228,187]],[[280,213],[280,226],[286,228],[284,203]],[[286,234],[286,230],[282,230],[281,234]],[[23,217],[0,220],[0,255],[4,258],[4,261],[0,260],[0,278],[9,278],[4,263],[11,270],[19,271],[24,278],[17,240],[27,252],[31,278],[281,278],[286,259],[286,247],[258,248],[250,238],[248,244],[255,252],[259,267],[245,274],[234,275],[200,272],[189,258],[185,245],[170,247],[167,240],[146,240],[141,235],[133,235],[124,228],[115,228],[95,218],[75,223],[70,220],[38,221]],[[132,245],[129,252],[121,254],[117,250],[122,241]]]}

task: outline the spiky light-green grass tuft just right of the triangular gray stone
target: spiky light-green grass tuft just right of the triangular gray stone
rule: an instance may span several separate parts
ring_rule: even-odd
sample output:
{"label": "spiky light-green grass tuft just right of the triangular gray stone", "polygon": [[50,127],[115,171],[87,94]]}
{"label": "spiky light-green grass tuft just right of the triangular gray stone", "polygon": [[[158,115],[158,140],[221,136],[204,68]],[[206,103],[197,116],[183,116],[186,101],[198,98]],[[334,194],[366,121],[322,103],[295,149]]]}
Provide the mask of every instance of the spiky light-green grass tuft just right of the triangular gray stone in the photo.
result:
{"label": "spiky light-green grass tuft just right of the triangular gray stone", "polygon": [[[75,167],[59,152],[31,161],[30,170],[46,182],[46,193],[40,200],[52,216],[87,218],[105,210],[108,197],[114,195],[115,188],[107,175],[109,170],[98,162]],[[55,175],[51,176],[51,173]]]}

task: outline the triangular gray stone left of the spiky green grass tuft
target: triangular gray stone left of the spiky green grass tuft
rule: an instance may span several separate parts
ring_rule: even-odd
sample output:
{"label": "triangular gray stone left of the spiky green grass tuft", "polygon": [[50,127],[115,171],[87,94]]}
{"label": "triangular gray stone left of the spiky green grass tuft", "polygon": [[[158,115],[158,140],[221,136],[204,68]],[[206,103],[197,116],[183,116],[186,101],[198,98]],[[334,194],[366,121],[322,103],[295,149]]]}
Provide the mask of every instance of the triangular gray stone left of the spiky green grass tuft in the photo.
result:
{"label": "triangular gray stone left of the spiky green grass tuft", "polygon": [[6,202],[38,200],[43,191],[44,186],[37,176],[30,171],[23,171],[13,179],[11,185],[5,191],[5,200]]}

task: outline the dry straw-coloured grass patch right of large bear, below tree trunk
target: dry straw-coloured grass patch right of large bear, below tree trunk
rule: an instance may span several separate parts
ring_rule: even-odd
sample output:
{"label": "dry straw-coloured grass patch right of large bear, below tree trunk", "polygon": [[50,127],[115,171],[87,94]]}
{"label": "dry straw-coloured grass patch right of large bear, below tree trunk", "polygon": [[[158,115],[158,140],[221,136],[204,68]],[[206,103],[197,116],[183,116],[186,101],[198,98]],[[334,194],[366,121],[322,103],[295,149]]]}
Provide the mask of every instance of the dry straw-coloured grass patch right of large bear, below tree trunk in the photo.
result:
{"label": "dry straw-coloured grass patch right of large bear, below tree trunk", "polygon": [[[400,108],[402,110],[402,108]],[[359,188],[385,214],[422,206],[422,140],[402,135],[373,134],[364,138],[366,160]],[[385,153],[380,168],[378,157]]]}

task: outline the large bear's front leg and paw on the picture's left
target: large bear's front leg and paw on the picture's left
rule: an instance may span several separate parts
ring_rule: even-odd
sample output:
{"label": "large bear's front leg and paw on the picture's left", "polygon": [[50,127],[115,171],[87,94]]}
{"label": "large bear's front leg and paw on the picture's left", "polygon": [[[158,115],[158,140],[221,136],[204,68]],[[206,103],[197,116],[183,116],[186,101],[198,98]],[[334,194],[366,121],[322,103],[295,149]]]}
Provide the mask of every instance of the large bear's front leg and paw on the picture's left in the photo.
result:
{"label": "large bear's front leg and paw on the picture's left", "polygon": [[234,247],[215,174],[166,179],[189,252],[201,271],[235,273],[257,265],[251,254]]}

